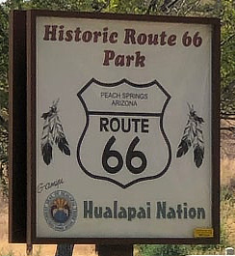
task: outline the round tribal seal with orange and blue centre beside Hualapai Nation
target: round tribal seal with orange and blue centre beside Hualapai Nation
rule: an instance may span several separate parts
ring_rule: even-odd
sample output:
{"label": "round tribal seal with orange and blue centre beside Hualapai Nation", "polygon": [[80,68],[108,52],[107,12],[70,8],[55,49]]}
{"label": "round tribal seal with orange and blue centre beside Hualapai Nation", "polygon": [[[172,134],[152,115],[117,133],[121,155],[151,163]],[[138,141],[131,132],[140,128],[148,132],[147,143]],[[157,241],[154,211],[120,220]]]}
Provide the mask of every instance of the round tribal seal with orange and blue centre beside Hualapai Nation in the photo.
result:
{"label": "round tribal seal with orange and blue centre beside Hualapai Nation", "polygon": [[56,231],[65,231],[77,219],[77,203],[70,193],[57,190],[45,200],[43,212],[49,227]]}

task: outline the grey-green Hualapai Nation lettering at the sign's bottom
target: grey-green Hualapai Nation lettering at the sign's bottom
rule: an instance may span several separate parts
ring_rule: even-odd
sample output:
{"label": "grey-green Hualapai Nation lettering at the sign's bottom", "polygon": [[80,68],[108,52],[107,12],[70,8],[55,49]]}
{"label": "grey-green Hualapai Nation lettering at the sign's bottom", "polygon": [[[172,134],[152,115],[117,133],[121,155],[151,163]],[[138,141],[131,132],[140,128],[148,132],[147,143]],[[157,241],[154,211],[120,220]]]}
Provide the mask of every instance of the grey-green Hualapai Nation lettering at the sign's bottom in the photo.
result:
{"label": "grey-green Hualapai Nation lettering at the sign's bottom", "polygon": [[203,207],[189,207],[188,203],[169,205],[166,201],[158,201],[155,204],[145,202],[142,206],[123,206],[114,201],[109,206],[101,206],[93,201],[84,201],[84,218],[118,218],[132,221],[134,219],[205,219],[206,212]]}

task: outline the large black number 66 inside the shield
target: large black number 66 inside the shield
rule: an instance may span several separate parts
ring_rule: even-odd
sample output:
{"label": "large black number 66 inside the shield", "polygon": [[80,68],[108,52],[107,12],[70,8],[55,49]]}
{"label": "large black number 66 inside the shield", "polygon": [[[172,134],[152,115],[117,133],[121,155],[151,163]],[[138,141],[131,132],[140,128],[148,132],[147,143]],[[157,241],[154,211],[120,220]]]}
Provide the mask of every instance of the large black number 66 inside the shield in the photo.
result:
{"label": "large black number 66 inside the shield", "polygon": [[[112,136],[109,141],[107,142],[107,144],[105,145],[104,148],[104,152],[102,155],[102,165],[105,169],[105,171],[107,171],[110,174],[117,174],[122,166],[123,166],[123,157],[120,155],[120,153],[116,150],[111,150],[111,147],[113,146],[113,144],[116,141],[116,137]],[[134,148],[136,147],[136,145],[140,142],[140,139],[138,136],[136,136],[128,150],[126,153],[126,158],[125,158],[125,164],[127,169],[132,173],[132,174],[141,174],[142,172],[144,172],[144,169],[146,168],[146,156],[144,156],[144,153],[141,151],[134,151]],[[116,166],[110,166],[108,160],[110,157],[115,157],[118,160],[118,163]],[[140,158],[141,159],[141,165],[136,167],[132,164],[132,159],[133,158]]]}

